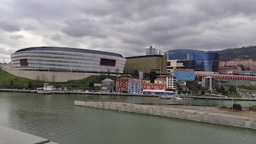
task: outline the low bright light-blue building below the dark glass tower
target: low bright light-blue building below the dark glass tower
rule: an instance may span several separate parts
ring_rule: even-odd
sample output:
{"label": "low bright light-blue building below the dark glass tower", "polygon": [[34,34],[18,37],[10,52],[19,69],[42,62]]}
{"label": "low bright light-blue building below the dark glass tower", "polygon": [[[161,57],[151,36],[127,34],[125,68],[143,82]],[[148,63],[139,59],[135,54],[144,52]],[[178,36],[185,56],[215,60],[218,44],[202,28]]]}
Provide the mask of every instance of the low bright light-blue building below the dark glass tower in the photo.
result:
{"label": "low bright light-blue building below the dark glass tower", "polygon": [[195,80],[195,71],[192,69],[178,69],[171,73],[176,80],[193,81]]}

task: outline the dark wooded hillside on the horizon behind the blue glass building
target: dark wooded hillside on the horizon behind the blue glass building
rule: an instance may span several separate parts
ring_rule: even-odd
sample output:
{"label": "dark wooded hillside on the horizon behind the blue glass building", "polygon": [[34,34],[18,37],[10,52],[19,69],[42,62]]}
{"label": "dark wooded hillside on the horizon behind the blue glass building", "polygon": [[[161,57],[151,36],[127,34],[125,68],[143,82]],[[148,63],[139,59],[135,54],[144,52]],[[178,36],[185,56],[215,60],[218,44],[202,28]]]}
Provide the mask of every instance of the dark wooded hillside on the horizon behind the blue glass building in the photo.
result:
{"label": "dark wooded hillside on the horizon behind the blue glass building", "polygon": [[[169,55],[172,60],[186,57],[188,52],[200,52],[201,50],[169,50],[166,55]],[[220,61],[228,61],[233,59],[252,59],[256,60],[256,46],[250,46],[245,48],[229,48],[218,52],[220,54]]]}

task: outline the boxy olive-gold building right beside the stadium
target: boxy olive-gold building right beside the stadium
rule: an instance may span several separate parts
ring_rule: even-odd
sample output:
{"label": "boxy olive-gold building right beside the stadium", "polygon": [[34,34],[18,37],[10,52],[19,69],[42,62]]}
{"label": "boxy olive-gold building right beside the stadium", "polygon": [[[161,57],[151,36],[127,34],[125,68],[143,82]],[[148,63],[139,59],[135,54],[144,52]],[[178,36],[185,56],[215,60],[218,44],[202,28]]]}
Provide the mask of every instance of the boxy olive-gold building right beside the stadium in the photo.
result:
{"label": "boxy olive-gold building right beside the stadium", "polygon": [[124,74],[132,74],[134,70],[143,73],[156,72],[156,74],[166,74],[166,67],[166,55],[126,57]]}

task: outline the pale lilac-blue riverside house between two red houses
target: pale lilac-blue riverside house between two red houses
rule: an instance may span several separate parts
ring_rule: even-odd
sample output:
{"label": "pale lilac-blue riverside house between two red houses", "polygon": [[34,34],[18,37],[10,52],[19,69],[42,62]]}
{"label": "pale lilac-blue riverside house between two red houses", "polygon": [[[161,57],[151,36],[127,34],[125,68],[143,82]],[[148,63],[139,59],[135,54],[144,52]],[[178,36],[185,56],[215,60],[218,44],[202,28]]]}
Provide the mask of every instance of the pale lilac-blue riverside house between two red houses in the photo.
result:
{"label": "pale lilac-blue riverside house between two red houses", "polygon": [[129,79],[128,80],[128,93],[140,94],[142,92],[142,80],[141,79]]}

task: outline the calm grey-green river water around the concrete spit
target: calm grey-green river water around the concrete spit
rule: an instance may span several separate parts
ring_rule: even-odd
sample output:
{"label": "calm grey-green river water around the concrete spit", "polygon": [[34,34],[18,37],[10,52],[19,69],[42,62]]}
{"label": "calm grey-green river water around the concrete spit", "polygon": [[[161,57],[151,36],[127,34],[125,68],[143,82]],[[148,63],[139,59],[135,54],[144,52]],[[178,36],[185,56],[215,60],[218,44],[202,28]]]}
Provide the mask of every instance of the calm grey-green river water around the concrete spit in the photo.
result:
{"label": "calm grey-green river water around the concrete spit", "polygon": [[[74,106],[74,100],[183,104],[137,96],[0,92],[0,125],[57,143],[256,143],[256,131],[175,118]],[[217,106],[218,100],[188,100]],[[230,101],[220,101],[229,105]],[[240,101],[242,105],[256,105]],[[14,135],[15,138],[15,135]]]}

